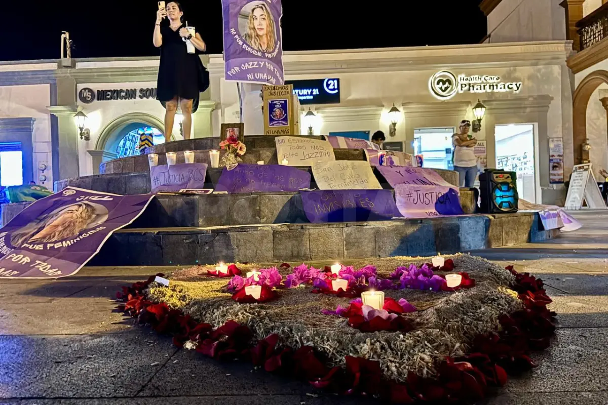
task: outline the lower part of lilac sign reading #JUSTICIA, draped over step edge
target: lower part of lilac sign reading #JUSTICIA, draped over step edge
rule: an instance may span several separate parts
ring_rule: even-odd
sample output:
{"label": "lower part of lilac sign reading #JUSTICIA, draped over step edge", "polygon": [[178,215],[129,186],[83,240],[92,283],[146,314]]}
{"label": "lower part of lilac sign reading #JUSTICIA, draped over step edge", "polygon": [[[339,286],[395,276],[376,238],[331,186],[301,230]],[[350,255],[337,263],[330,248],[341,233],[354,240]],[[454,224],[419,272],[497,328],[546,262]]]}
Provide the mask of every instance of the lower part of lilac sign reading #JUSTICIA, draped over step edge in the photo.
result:
{"label": "lower part of lilac sign reading #JUSTICIA, draped over step edge", "polygon": [[397,208],[406,218],[434,218],[465,214],[457,188],[444,186],[395,186]]}

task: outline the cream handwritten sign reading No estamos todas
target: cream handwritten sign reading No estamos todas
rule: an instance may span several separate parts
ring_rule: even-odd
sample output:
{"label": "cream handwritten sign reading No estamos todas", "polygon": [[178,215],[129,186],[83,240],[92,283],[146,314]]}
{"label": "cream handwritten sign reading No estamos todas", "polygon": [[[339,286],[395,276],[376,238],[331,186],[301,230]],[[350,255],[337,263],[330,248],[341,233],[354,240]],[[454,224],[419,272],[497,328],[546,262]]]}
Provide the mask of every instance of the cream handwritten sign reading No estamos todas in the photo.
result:
{"label": "cream handwritten sign reading No estamos todas", "polygon": [[328,141],[304,137],[276,137],[278,163],[287,166],[312,166],[317,162],[336,160],[334,148]]}

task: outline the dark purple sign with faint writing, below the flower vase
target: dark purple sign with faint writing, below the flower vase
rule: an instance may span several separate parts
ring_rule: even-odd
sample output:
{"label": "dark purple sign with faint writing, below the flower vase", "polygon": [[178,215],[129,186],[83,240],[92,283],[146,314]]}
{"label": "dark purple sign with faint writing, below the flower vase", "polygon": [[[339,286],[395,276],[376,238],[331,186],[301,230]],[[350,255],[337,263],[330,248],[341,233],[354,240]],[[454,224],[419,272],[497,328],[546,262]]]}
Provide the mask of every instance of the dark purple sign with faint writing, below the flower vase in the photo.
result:
{"label": "dark purple sign with faint writing, below the flower vase", "polygon": [[224,168],[215,191],[243,192],[299,191],[310,188],[310,173],[289,166],[245,165]]}

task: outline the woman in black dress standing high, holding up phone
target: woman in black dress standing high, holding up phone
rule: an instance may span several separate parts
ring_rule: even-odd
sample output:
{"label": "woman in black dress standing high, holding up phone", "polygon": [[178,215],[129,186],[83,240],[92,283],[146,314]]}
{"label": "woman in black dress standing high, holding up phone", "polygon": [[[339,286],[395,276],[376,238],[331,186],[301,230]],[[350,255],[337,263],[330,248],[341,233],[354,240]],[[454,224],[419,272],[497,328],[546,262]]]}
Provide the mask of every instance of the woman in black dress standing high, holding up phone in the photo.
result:
{"label": "woman in black dress standing high, holding up phone", "polygon": [[[160,9],[156,13],[154,27],[154,46],[161,48],[157,99],[167,110],[165,112],[167,142],[171,139],[178,102],[184,115],[182,121],[184,138],[190,139],[193,109],[196,111],[199,94],[209,87],[209,73],[202,66],[201,58],[196,53],[188,53],[184,39],[190,41],[201,52],[207,49],[207,45],[198,32],[196,35],[188,32],[182,22],[183,15],[181,4],[176,1],[168,2],[165,9]],[[161,25],[165,17],[168,18],[168,24]]]}

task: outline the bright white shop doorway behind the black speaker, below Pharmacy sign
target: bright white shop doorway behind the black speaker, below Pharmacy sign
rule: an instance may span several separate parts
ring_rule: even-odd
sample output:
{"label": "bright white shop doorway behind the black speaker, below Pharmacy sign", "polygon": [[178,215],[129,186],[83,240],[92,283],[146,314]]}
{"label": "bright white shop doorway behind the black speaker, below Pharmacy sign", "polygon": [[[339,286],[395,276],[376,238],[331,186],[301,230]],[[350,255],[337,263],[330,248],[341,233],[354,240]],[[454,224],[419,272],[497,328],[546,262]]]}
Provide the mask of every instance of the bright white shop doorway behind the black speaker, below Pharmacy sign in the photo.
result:
{"label": "bright white shop doorway behind the black speaker, below Pharmacy sign", "polygon": [[496,168],[513,171],[517,174],[519,198],[536,203],[538,185],[538,159],[534,142],[533,124],[497,125]]}

